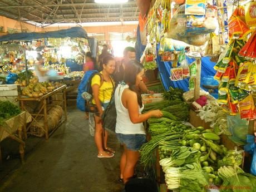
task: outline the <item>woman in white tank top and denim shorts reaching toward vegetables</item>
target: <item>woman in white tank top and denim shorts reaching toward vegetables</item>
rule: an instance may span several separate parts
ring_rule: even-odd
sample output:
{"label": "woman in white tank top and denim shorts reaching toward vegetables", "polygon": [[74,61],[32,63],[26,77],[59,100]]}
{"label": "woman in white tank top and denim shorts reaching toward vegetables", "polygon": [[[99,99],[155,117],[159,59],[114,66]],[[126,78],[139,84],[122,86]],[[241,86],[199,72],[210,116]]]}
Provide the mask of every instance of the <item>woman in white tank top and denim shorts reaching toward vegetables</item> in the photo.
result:
{"label": "woman in white tank top and denim shorts reaching toward vegetables", "polygon": [[134,175],[134,168],[139,160],[139,149],[146,142],[142,122],[150,117],[161,117],[160,110],[152,110],[141,114],[144,106],[138,88],[144,75],[140,62],[130,61],[125,67],[124,82],[115,90],[116,136],[124,144],[124,152],[120,161],[120,181],[126,183]]}

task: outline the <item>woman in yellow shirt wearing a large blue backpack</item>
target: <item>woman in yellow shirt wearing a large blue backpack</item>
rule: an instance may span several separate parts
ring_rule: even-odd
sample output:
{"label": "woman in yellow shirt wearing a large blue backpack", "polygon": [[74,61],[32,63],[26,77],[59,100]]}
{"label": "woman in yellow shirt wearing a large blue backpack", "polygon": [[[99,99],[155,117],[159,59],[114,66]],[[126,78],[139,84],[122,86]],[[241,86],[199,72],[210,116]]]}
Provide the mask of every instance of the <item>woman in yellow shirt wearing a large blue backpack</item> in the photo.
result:
{"label": "woman in yellow shirt wearing a large blue backpack", "polygon": [[[102,62],[102,71],[100,75],[95,75],[92,78],[91,86],[93,93],[92,103],[97,106],[98,112],[94,115],[95,119],[95,143],[98,148],[98,157],[113,157],[115,151],[110,147],[107,147],[107,135],[108,132],[102,128],[101,116],[104,108],[110,102],[112,92],[114,90],[114,81],[112,80],[111,74],[114,73],[116,62],[113,57],[107,56]],[[103,81],[102,81],[103,80]]]}

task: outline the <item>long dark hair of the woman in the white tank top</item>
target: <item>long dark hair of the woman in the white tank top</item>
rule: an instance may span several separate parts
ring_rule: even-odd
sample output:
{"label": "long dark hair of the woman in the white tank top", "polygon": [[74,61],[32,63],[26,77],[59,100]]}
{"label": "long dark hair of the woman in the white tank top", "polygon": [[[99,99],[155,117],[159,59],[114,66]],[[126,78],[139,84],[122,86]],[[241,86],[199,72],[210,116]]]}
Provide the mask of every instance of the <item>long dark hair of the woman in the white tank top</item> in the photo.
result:
{"label": "long dark hair of the woman in the white tank top", "polygon": [[125,67],[124,81],[129,85],[131,91],[136,92],[137,100],[140,107],[142,107],[141,91],[136,87],[136,77],[143,70],[143,65],[136,60],[127,63]]}

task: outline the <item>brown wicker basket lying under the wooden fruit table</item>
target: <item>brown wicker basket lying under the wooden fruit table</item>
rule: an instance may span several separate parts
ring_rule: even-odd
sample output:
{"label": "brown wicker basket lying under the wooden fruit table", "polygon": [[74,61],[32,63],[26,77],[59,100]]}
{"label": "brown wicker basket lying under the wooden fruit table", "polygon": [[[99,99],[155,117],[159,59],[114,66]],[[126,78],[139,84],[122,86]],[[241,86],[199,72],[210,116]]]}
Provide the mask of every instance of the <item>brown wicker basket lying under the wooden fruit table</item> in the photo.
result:
{"label": "brown wicker basket lying under the wooden fruit table", "polygon": [[[61,117],[63,114],[63,110],[60,106],[54,106],[47,113],[47,122],[48,122],[48,131],[55,129],[58,124],[61,122]],[[33,121],[30,127],[31,135],[35,135],[38,137],[42,137],[45,135],[45,123],[43,118],[39,119],[37,122]]]}

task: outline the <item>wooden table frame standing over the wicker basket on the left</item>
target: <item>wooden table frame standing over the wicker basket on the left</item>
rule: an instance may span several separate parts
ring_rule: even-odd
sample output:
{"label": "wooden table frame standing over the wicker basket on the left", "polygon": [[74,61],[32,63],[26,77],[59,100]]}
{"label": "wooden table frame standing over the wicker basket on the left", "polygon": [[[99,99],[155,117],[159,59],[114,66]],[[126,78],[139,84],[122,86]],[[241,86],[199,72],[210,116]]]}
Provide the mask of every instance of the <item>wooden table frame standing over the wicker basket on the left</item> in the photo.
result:
{"label": "wooden table frame standing over the wicker basket on the left", "polygon": [[[32,122],[38,121],[40,117],[43,117],[44,120],[44,127],[43,131],[45,132],[45,138],[49,139],[49,127],[47,122],[47,110],[48,108],[52,107],[52,101],[57,101],[58,105],[62,106],[62,109],[64,111],[65,115],[65,121],[67,120],[67,104],[66,104],[66,85],[63,85],[61,87],[56,88],[55,90],[47,93],[46,95],[43,95],[42,97],[38,98],[27,98],[27,97],[18,97],[17,100],[20,102],[21,109],[23,111],[27,111],[26,108],[26,102],[38,102],[38,106],[40,106],[39,110],[37,112],[34,112],[31,114],[32,116]],[[53,96],[60,96],[58,99],[53,100]],[[31,124],[32,124],[31,122]],[[27,129],[30,128],[31,124],[27,127]]]}

